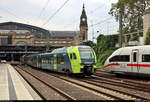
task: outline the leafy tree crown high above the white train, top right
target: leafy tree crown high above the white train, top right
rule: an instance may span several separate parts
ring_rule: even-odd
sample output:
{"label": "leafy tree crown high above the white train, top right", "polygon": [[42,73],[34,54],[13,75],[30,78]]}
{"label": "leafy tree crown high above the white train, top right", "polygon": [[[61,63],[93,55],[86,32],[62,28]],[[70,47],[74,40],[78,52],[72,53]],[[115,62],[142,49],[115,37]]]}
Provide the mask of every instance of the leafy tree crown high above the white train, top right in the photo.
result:
{"label": "leafy tree crown high above the white train, top right", "polygon": [[123,33],[143,29],[143,14],[150,7],[150,0],[118,0],[113,3],[109,14],[119,21],[122,14]]}

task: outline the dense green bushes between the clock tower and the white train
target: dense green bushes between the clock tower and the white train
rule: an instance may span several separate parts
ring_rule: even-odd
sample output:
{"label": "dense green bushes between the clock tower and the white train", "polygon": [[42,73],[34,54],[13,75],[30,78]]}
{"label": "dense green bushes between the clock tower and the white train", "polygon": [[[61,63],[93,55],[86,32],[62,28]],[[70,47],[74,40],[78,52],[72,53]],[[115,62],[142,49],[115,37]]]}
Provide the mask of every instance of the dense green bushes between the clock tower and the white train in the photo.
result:
{"label": "dense green bushes between the clock tower and the white train", "polygon": [[104,68],[106,59],[116,50],[115,44],[118,42],[118,35],[102,35],[97,37],[97,44],[87,41],[86,45],[91,46],[97,57],[97,67]]}

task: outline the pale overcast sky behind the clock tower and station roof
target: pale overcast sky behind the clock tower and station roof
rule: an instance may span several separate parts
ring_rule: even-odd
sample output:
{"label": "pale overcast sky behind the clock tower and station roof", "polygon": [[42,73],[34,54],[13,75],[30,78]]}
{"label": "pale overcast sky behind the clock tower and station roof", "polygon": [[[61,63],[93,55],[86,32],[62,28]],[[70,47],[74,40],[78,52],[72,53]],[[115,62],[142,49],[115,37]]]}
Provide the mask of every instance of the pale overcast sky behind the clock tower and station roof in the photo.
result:
{"label": "pale overcast sky behind the clock tower and station roof", "polygon": [[[108,14],[111,3],[118,0],[68,0],[65,6],[55,15],[66,0],[0,0],[0,22],[19,22],[47,30],[79,30],[83,2],[88,18],[89,40],[92,33],[115,34],[118,23]],[[52,17],[49,22],[48,19]],[[106,20],[107,19],[107,20]],[[106,20],[105,22],[103,22]],[[91,26],[92,24],[97,24]],[[44,25],[44,26],[43,26]]]}

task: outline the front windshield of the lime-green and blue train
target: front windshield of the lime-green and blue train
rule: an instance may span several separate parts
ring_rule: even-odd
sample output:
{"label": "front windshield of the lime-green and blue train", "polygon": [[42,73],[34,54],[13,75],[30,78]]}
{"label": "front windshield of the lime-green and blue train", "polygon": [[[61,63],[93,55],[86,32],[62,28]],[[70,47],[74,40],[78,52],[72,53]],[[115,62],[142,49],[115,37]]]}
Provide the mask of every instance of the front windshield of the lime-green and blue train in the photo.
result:
{"label": "front windshield of the lime-green and blue train", "polygon": [[81,59],[94,59],[94,54],[92,49],[80,48],[79,49]]}

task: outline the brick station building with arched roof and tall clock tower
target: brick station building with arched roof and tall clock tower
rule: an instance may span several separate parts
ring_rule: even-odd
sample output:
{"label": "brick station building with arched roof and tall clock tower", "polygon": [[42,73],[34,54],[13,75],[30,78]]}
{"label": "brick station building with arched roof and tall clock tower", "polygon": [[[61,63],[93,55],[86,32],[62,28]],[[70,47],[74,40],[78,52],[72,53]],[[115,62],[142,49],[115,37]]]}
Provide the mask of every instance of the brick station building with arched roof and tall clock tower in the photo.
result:
{"label": "brick station building with arched roof and tall clock tower", "polygon": [[83,5],[80,16],[80,31],[48,31],[32,25],[4,22],[0,23],[0,46],[72,46],[82,44],[88,39],[88,24]]}

